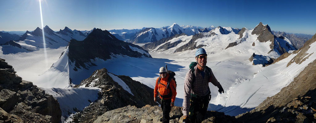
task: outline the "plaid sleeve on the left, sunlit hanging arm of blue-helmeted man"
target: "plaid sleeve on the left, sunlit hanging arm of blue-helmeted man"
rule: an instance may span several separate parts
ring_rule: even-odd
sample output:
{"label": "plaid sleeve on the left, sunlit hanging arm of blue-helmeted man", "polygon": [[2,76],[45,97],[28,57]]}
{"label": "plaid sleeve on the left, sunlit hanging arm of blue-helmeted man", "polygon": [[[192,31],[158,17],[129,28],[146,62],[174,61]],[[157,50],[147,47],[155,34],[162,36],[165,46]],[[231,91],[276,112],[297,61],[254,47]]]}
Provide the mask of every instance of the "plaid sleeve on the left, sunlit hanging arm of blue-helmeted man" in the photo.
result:
{"label": "plaid sleeve on the left, sunlit hanging arm of blue-helmeted man", "polygon": [[189,70],[184,79],[184,94],[183,94],[183,103],[182,103],[182,113],[184,116],[189,115],[189,108],[190,108],[190,99],[191,99],[191,83],[192,83],[192,74]]}

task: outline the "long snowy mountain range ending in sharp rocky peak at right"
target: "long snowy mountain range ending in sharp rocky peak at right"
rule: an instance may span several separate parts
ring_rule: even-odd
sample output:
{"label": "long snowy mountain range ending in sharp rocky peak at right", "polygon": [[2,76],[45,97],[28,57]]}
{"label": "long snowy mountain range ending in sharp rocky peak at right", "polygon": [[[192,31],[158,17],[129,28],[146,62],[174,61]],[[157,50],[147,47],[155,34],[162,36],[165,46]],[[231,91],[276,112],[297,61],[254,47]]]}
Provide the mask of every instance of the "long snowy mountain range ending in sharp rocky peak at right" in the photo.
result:
{"label": "long snowy mountain range ending in sharp rocky peak at right", "polygon": [[[207,30],[207,29],[205,28],[204,30]],[[257,52],[256,54],[254,53],[252,54],[252,56],[249,56],[251,57],[250,61],[253,64],[263,64],[264,66],[266,64],[273,63],[273,60],[279,57],[280,55],[282,55],[283,53],[288,53],[288,52],[296,50],[294,45],[288,39],[282,36],[278,37],[278,36],[273,35],[272,31],[270,30],[269,25],[263,25],[261,22],[253,30],[248,30],[246,28],[242,28],[240,30],[240,29],[234,29],[231,27],[218,26],[213,30],[200,32],[193,36],[186,35],[185,33],[182,33],[181,35],[176,34],[168,38],[162,38],[153,43],[145,44],[143,48],[149,51],[154,51],[154,52],[164,52],[168,50],[169,52],[175,53],[175,52],[192,50],[196,48],[207,47],[210,44],[205,43],[205,42],[197,42],[197,41],[216,40],[216,39],[221,40],[221,42],[217,42],[218,44],[221,43],[221,45],[225,44],[226,42],[228,43],[228,41],[226,41],[225,39],[230,39],[230,40],[235,39],[234,42],[228,43],[225,49],[237,46],[246,41],[253,42],[251,44],[252,46],[250,45],[251,47],[266,49],[267,46],[266,44],[263,44],[263,43],[269,42],[268,43],[269,49],[270,49],[269,51],[263,54],[258,54]],[[218,46],[216,47],[220,49],[220,47]]]}

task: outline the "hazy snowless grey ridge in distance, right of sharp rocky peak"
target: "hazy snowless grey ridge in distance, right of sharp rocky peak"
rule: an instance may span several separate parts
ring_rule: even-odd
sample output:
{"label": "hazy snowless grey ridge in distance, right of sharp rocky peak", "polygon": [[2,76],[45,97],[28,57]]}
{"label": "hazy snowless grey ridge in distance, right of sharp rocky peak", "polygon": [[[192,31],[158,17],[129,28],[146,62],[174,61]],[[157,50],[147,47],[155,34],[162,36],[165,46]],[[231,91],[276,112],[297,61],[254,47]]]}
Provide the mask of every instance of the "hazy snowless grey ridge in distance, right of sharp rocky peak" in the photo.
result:
{"label": "hazy snowless grey ridge in distance, right of sharp rocky peak", "polygon": [[276,32],[276,31],[272,31],[274,33],[274,35],[276,36],[283,36],[283,37],[286,37],[289,39],[290,42],[292,42],[293,46],[296,48],[296,49],[299,49],[301,47],[303,47],[304,43],[309,40],[312,35],[309,36],[298,36],[298,35],[295,35],[295,34],[287,34],[286,32]]}

